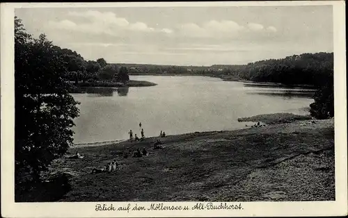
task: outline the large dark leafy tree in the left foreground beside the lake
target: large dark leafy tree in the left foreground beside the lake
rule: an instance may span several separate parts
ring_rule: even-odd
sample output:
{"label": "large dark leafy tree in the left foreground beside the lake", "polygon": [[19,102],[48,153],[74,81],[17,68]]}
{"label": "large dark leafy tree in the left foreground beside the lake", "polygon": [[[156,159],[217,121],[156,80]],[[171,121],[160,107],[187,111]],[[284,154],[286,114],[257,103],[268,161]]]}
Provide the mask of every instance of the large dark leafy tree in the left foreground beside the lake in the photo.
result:
{"label": "large dark leafy tree in the left foreground beside the lake", "polygon": [[29,171],[35,180],[72,145],[77,101],[63,58],[44,34],[33,39],[15,17],[15,178]]}

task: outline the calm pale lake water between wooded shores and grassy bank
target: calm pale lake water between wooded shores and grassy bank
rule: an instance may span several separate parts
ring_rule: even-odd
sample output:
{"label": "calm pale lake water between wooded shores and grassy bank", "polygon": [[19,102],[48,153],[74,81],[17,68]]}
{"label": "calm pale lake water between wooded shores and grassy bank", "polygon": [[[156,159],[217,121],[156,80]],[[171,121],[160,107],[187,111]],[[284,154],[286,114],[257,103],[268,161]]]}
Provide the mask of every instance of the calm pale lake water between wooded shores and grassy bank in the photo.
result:
{"label": "calm pale lake water between wooded shores and grassy bank", "polygon": [[74,143],[122,140],[132,129],[146,136],[244,128],[238,117],[308,114],[313,90],[267,87],[205,76],[130,76],[151,87],[98,88],[72,94],[81,102]]}

